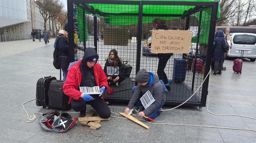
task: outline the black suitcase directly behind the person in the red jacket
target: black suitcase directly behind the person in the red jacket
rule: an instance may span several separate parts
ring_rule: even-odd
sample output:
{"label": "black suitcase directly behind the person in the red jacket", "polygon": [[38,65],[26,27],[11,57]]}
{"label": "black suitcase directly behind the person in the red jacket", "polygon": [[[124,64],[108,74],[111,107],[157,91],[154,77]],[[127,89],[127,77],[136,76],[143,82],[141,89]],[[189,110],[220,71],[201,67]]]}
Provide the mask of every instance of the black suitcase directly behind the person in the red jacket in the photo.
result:
{"label": "black suitcase directly behind the person in the red jacket", "polygon": [[69,96],[63,93],[65,81],[52,80],[49,84],[49,107],[59,110],[70,110]]}

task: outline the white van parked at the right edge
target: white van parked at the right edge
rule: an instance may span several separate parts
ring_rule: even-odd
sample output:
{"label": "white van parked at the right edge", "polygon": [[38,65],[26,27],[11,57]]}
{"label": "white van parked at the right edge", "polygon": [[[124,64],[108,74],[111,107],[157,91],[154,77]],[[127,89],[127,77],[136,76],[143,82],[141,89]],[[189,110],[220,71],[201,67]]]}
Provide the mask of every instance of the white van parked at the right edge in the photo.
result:
{"label": "white van parked at the right edge", "polygon": [[253,33],[230,33],[231,46],[228,57],[241,57],[244,51],[244,58],[250,59],[252,62],[256,60],[256,34]]}

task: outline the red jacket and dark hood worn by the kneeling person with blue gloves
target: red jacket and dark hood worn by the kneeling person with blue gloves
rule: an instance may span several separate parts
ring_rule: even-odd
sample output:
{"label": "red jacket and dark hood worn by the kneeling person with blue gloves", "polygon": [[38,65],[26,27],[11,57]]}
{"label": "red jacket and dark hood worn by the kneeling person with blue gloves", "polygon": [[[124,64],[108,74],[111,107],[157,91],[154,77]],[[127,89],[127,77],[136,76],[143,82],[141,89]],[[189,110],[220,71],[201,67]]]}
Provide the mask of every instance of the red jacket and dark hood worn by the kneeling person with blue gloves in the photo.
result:
{"label": "red jacket and dark hood worn by the kneeling person with blue gloves", "polygon": [[[97,52],[94,49],[93,50],[86,49],[86,52],[84,53],[83,61],[86,61],[86,59],[96,56],[96,55],[98,56]],[[63,85],[64,94],[69,96],[69,104],[70,104],[72,98],[75,100],[82,99],[80,97],[82,92],[79,91],[79,86],[82,81],[82,73],[80,70],[81,62],[82,62],[82,60],[78,61],[77,64],[70,67],[69,72],[67,73],[66,82]],[[93,72],[94,72],[96,85],[99,86],[100,88],[102,86],[105,86],[107,88],[108,87],[107,77],[106,77],[101,65],[98,64],[97,62],[93,66]],[[91,80],[91,79],[88,79],[88,80]]]}

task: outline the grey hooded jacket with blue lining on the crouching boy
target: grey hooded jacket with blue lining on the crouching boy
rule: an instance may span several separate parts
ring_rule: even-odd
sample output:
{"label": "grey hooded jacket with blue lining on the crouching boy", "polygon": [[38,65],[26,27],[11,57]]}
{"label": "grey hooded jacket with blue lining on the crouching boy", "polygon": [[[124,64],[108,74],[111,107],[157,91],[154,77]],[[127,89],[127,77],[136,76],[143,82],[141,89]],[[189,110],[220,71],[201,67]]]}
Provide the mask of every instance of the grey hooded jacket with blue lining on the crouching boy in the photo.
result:
{"label": "grey hooded jacket with blue lining on the crouching boy", "polygon": [[148,74],[150,75],[150,81],[148,85],[138,85],[127,106],[130,109],[133,108],[135,102],[137,100],[140,100],[139,98],[141,97],[141,93],[142,95],[144,95],[149,90],[150,93],[153,95],[155,102],[153,102],[147,109],[143,111],[146,116],[154,112],[160,106],[160,104],[163,105],[166,100],[166,92],[164,91],[163,84],[161,84],[161,82],[159,81],[159,77],[152,72],[148,72]]}

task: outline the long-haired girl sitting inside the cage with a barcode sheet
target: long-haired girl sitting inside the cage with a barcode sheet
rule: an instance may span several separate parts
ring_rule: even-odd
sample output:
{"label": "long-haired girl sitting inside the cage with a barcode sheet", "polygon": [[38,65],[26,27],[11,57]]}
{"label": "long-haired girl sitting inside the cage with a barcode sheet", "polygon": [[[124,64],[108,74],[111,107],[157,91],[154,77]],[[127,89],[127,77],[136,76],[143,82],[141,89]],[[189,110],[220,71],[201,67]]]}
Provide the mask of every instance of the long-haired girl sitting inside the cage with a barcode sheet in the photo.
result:
{"label": "long-haired girl sitting inside the cage with a barcode sheet", "polygon": [[121,69],[122,66],[123,65],[117,55],[117,51],[115,49],[112,49],[108,54],[108,59],[106,60],[104,66],[104,72],[108,78],[109,85],[118,86],[118,83],[122,82],[125,79]]}

